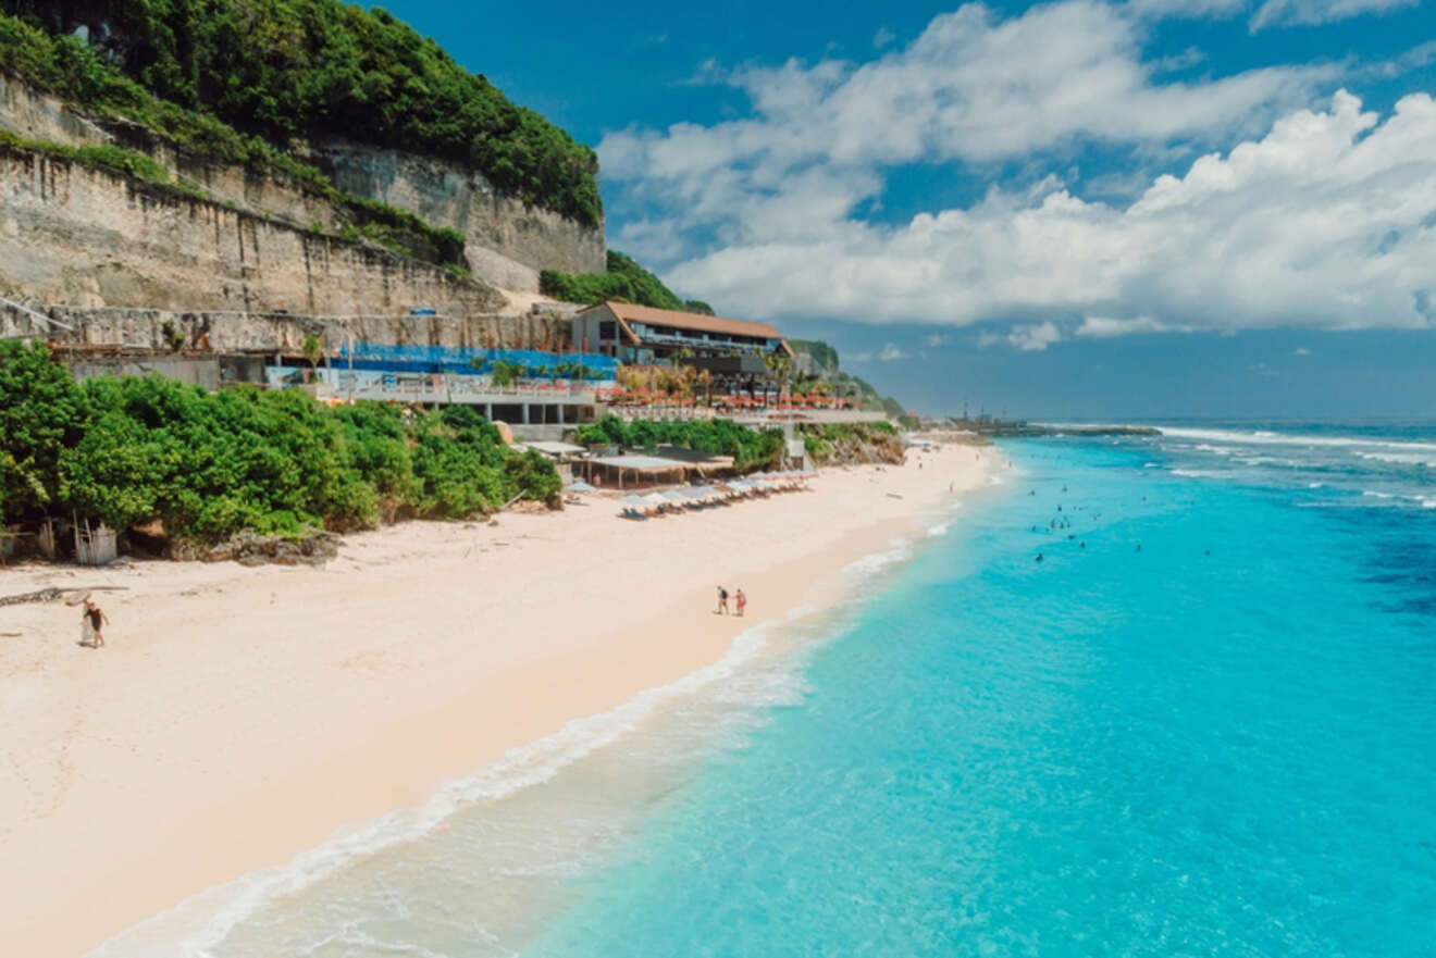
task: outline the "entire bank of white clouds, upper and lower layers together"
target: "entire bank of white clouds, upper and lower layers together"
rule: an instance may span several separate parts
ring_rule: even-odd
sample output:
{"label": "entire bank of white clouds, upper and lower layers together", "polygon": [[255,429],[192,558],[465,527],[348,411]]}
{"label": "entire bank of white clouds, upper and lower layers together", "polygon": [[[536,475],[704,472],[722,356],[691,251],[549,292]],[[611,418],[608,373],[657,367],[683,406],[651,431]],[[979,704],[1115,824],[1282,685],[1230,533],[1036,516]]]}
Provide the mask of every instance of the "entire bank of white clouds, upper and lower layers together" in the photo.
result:
{"label": "entire bank of white clouds, upper and lower layers together", "polygon": [[[1304,108],[1328,68],[1162,83],[1139,40],[1103,4],[1010,20],[968,4],[864,66],[732,73],[752,116],[605,138],[606,178],[651,210],[619,244],[729,313],[1007,320],[1008,345],[1031,350],[1064,329],[1436,323],[1429,95],[1381,118],[1344,90]],[[1173,141],[1239,145],[1149,181],[1127,205],[1048,177],[898,225],[864,218],[892,168]]]}

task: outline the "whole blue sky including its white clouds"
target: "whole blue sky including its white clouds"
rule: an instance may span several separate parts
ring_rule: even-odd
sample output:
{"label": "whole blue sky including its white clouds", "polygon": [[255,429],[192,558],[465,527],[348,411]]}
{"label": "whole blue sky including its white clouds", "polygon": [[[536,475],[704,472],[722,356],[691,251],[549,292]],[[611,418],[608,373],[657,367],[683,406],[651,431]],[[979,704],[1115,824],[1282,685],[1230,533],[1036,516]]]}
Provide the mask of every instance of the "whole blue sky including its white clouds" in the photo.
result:
{"label": "whole blue sky including its white clouds", "polygon": [[1436,0],[389,9],[932,412],[1436,418]]}

